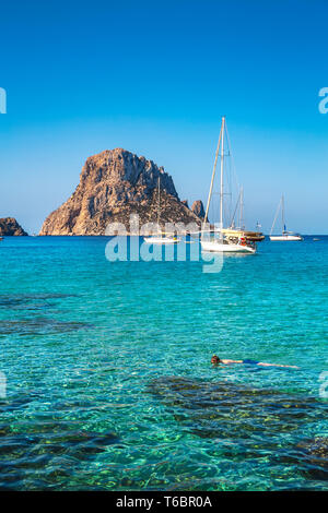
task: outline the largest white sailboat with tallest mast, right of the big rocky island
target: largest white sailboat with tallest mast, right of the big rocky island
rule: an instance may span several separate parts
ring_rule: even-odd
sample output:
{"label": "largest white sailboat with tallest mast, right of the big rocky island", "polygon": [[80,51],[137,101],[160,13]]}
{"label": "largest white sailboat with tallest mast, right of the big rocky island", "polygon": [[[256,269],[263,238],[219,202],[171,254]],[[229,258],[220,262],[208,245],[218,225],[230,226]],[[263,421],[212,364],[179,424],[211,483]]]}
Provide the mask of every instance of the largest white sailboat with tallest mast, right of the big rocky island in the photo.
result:
{"label": "largest white sailboat with tallest mast, right of the big rocky island", "polygon": [[[210,191],[208,196],[207,210],[204,215],[204,224],[208,222],[209,207],[212,199],[213,183],[216,170],[216,163],[221,147],[221,176],[220,176],[220,228],[219,238],[206,239],[202,237],[200,243],[203,251],[213,251],[218,253],[256,253],[256,242],[248,237],[251,234],[256,237],[256,232],[247,232],[244,229],[235,229],[233,226],[223,228],[223,196],[224,196],[224,135],[226,132],[225,117],[222,118],[221,131],[219,135],[218,147],[215,152],[214,167],[212,171]],[[242,191],[241,191],[242,193]],[[239,200],[242,200],[239,195]],[[202,230],[206,232],[206,230]],[[260,234],[261,235],[261,234]]]}

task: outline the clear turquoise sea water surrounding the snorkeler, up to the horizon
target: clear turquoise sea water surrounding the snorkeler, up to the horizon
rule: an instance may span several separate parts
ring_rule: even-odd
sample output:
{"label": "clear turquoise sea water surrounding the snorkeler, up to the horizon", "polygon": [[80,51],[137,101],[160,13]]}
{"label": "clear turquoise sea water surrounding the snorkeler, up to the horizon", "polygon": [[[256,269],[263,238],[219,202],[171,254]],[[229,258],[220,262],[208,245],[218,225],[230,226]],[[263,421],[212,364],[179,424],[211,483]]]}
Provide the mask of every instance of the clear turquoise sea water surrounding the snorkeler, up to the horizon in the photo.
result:
{"label": "clear turquoise sea water surrounding the snorkeler, up to the horizon", "polygon": [[0,487],[328,489],[328,238],[218,274],[107,240],[0,242]]}

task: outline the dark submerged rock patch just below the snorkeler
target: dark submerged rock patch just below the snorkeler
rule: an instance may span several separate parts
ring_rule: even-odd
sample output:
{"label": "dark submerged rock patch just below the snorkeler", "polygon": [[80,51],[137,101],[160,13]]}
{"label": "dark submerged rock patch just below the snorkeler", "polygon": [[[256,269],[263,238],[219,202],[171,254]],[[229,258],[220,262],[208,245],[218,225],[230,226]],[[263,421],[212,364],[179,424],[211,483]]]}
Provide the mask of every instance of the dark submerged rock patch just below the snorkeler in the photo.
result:
{"label": "dark submerged rock patch just below the snorkeler", "polygon": [[270,389],[230,382],[206,382],[163,377],[149,391],[173,409],[176,420],[201,438],[251,439],[296,431],[300,421],[327,415],[327,405],[315,397],[291,396]]}

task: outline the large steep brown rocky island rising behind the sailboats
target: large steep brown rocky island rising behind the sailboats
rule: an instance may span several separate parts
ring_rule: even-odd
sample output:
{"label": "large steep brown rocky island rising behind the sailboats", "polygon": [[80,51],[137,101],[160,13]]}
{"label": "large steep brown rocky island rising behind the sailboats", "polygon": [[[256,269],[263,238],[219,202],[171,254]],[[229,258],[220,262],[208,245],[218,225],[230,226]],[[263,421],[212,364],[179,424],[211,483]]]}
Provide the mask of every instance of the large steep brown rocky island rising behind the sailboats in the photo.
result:
{"label": "large steep brown rocky island rising behind the sailboats", "polygon": [[129,228],[130,214],[140,225],[157,220],[161,184],[161,225],[199,224],[199,217],[180,202],[171,176],[152,160],[122,148],[86,159],[73,194],[45,220],[39,235],[104,235],[108,223]]}

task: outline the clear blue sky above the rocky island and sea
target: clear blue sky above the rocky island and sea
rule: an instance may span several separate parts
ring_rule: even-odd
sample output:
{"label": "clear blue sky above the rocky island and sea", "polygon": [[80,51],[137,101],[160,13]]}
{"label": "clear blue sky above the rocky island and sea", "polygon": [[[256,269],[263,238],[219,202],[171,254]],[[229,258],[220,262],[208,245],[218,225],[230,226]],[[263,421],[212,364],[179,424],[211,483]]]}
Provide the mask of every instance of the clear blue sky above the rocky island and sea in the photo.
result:
{"label": "clear blue sky above the rocky island and sea", "polygon": [[124,147],[206,201],[226,116],[246,220],[328,234],[327,0],[12,1],[0,9],[0,217],[27,231]]}

